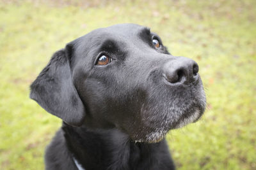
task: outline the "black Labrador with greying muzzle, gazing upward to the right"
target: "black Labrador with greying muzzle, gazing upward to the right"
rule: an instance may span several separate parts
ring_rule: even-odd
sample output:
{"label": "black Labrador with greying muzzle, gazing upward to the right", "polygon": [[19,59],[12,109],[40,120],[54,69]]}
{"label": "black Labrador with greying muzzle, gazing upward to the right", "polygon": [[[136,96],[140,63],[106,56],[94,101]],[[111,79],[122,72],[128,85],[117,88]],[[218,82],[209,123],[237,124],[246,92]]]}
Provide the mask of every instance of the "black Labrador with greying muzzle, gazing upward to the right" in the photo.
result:
{"label": "black Labrador with greying muzzle, gazing upward to the right", "polygon": [[157,34],[135,24],[68,43],[30,97],[63,120],[46,169],[175,169],[165,134],[205,110],[196,62],[170,55]]}

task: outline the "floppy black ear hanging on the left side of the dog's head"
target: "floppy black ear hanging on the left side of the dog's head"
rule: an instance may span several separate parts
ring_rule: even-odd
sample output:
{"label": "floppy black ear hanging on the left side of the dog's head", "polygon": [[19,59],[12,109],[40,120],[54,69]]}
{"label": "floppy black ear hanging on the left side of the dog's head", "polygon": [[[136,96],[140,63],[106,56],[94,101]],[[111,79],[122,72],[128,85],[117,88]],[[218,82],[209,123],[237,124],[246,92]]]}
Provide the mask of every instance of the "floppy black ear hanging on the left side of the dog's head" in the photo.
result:
{"label": "floppy black ear hanging on the left side of the dog's head", "polygon": [[31,84],[30,97],[52,115],[70,125],[84,122],[84,105],[72,82],[72,45],[52,55],[50,62]]}

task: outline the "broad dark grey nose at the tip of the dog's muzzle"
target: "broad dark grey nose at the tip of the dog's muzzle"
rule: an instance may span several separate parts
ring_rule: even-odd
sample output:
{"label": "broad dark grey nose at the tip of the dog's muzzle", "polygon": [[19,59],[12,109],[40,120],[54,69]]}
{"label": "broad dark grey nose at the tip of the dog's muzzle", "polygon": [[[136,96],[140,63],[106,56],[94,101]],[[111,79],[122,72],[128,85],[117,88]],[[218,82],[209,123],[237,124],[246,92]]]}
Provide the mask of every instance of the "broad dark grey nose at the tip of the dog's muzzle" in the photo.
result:
{"label": "broad dark grey nose at the tip of the dog's muzzle", "polygon": [[163,76],[172,83],[191,83],[198,78],[198,64],[186,57],[177,57],[164,64]]}

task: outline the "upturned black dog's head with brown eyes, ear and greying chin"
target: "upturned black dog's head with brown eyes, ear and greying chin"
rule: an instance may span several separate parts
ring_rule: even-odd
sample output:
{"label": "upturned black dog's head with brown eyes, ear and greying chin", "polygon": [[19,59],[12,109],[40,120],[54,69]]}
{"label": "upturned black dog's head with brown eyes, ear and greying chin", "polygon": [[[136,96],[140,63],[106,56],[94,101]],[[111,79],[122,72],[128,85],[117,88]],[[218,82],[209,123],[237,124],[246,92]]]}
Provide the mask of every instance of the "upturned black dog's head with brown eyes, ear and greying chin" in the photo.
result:
{"label": "upturned black dog's head with brown eyes, ear and greying chin", "polygon": [[205,110],[196,62],[174,57],[157,34],[135,24],[68,43],[32,83],[31,98],[67,124],[115,127],[145,142],[195,122]]}

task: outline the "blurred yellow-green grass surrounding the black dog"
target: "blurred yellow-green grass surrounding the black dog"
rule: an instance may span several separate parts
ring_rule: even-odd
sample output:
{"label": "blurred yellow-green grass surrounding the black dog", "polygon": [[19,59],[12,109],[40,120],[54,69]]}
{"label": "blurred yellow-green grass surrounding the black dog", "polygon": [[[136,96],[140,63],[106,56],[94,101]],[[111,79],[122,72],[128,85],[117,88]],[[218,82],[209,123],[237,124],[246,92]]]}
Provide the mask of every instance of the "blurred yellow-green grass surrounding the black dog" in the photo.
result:
{"label": "blurred yellow-green grass surrounding the black dog", "polygon": [[29,84],[65,43],[98,27],[151,27],[200,66],[208,108],[167,140],[178,169],[256,169],[256,1],[0,0],[0,169],[43,169],[61,120]]}

